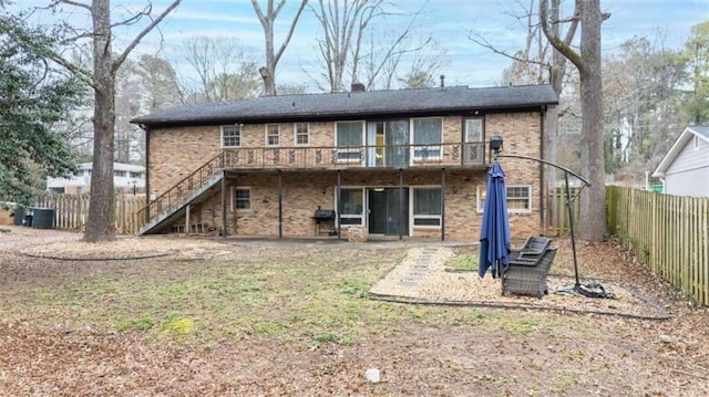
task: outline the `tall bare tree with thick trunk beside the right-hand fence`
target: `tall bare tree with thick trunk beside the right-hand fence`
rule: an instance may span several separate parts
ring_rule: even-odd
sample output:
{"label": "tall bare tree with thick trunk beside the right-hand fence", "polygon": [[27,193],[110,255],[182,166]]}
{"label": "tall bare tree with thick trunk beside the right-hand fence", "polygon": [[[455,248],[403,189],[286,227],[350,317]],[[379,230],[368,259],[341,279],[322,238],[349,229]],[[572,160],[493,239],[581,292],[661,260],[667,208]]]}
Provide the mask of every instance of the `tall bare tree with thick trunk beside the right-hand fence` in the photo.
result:
{"label": "tall bare tree with thick trunk beside the right-hand fence", "polygon": [[582,166],[592,188],[582,198],[579,238],[600,241],[606,233],[606,187],[604,171],[603,83],[600,60],[600,25],[610,15],[600,12],[600,0],[576,0],[574,15],[580,24],[580,53],[555,34],[549,20],[548,0],[540,1],[542,30],[554,48],[578,70],[582,101]]}

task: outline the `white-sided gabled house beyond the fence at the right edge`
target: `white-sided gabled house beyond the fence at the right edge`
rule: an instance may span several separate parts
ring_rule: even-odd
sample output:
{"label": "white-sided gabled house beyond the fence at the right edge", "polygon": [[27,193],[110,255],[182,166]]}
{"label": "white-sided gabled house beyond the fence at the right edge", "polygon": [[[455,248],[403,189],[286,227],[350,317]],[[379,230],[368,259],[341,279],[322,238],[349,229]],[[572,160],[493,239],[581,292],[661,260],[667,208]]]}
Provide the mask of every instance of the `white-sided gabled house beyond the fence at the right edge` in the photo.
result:
{"label": "white-sided gabled house beyond the fence at the right edge", "polygon": [[653,176],[668,195],[709,197],[709,125],[685,128]]}

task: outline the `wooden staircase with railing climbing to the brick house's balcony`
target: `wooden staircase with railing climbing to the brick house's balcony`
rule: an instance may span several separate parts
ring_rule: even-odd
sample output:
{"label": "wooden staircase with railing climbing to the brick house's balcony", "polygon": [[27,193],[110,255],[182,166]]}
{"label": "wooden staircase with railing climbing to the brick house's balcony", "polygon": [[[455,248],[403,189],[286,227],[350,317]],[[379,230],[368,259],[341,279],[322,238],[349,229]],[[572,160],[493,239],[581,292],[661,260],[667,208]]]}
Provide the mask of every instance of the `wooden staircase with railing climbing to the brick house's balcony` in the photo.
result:
{"label": "wooden staircase with railing climbing to the brick house's balcony", "polygon": [[137,211],[137,236],[160,232],[185,215],[187,206],[208,194],[224,178],[225,152],[197,168]]}

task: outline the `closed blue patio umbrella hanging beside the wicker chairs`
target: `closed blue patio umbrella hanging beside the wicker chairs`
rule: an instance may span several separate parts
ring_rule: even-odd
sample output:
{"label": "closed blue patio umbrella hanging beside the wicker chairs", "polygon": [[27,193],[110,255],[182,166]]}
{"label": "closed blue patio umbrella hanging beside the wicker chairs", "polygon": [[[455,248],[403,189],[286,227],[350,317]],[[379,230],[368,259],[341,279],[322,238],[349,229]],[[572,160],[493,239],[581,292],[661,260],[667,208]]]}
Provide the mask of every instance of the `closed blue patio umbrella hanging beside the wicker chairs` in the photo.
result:
{"label": "closed blue patio umbrella hanging beside the wicker chairs", "polygon": [[494,161],[487,171],[483,224],[480,229],[480,264],[477,274],[484,276],[491,268],[492,276],[502,275],[510,263],[510,218],[505,171]]}

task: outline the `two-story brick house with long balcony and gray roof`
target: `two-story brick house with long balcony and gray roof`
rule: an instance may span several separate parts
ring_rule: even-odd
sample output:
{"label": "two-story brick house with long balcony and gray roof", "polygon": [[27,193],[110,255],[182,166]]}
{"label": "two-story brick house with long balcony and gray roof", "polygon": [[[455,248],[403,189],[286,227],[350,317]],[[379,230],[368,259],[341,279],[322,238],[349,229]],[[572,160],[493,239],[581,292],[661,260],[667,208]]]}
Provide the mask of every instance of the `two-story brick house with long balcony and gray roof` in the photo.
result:
{"label": "two-story brick house with long balcony and gray roof", "polygon": [[[490,136],[543,155],[549,85],[264,96],[136,117],[155,200],[140,234],[479,239]],[[542,167],[501,159],[512,231],[541,232]],[[335,220],[315,219],[333,210]],[[226,226],[226,228],[224,228]]]}

